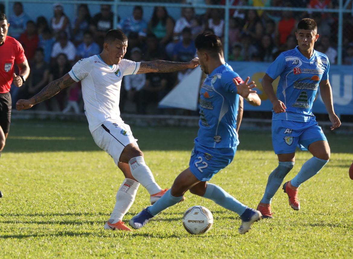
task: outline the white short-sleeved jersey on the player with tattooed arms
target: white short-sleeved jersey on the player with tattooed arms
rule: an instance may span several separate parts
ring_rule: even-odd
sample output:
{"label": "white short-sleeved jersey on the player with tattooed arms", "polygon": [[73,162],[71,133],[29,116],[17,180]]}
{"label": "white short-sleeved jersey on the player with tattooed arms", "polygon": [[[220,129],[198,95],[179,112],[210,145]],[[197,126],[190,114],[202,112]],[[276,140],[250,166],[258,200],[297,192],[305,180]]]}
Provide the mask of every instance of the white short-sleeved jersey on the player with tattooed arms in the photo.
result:
{"label": "white short-sleeved jersey on the player with tattooed arms", "polygon": [[123,123],[119,99],[122,77],[135,75],[140,62],[122,59],[118,65],[107,65],[99,55],[79,60],[68,73],[82,84],[85,114],[92,133],[104,121]]}

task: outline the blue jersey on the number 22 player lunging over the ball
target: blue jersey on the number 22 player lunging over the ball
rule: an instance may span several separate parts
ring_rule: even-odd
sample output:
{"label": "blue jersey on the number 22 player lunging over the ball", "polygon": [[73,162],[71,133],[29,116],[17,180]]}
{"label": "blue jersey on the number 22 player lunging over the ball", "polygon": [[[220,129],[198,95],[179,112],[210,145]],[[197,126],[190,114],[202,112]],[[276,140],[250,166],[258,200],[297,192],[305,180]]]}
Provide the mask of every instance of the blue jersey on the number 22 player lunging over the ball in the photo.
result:
{"label": "blue jersey on the number 22 player lunging over the ball", "polygon": [[230,65],[213,70],[200,89],[200,129],[198,143],[205,147],[229,148],[239,144],[237,114],[239,95],[233,83],[243,82]]}

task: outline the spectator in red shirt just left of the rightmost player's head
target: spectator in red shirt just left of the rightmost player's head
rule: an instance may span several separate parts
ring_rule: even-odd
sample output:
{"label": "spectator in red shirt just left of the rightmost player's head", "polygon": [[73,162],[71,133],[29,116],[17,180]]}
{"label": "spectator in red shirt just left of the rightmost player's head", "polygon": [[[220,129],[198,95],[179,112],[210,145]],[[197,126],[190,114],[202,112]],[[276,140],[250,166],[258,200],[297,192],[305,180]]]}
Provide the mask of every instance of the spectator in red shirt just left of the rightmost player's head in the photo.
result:
{"label": "spectator in red shirt just left of the rightmost player's head", "polygon": [[[287,3],[286,6],[290,6],[290,4]],[[295,26],[296,23],[297,21],[295,20],[292,11],[282,11],[282,19],[278,23],[278,29],[276,32],[279,45],[286,44],[287,37],[289,35],[294,35],[294,32],[297,30],[297,26]]]}

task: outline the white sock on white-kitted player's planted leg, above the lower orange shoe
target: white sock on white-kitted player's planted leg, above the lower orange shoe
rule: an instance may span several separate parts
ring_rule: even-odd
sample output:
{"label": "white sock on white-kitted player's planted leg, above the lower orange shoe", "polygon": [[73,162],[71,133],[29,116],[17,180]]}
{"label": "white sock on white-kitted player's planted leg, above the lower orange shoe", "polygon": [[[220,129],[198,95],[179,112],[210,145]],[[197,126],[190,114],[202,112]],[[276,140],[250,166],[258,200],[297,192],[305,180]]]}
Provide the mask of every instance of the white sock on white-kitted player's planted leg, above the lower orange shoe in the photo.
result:
{"label": "white sock on white-kitted player's planted leg, above the lower orange shoe", "polygon": [[140,184],[138,182],[125,178],[116,193],[116,203],[109,218],[110,223],[114,224],[119,220],[122,220],[122,217],[124,217],[134,202],[139,186]]}

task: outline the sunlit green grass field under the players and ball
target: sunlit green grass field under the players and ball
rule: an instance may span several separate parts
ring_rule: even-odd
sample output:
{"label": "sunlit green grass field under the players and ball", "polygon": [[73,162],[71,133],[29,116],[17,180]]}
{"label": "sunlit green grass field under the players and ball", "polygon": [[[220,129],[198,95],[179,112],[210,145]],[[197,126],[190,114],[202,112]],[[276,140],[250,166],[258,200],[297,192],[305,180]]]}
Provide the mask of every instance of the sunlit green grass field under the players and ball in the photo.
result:
{"label": "sunlit green grass field under the players and ball", "polygon": [[[196,128],[131,127],[156,181],[169,188],[189,163]],[[0,159],[0,258],[353,258],[353,135],[327,134],[331,160],[299,190],[294,211],[279,190],[273,220],[238,234],[238,215],[210,200],[186,193],[133,232],[103,229],[123,176],[94,143],[81,122],[13,121]],[[276,168],[270,132],[240,132],[234,161],[212,183],[249,207],[256,207],[269,173]],[[291,179],[311,157],[298,152]],[[141,186],[124,218],[148,206]],[[211,210],[214,225],[190,235],[182,225],[194,205]]]}

